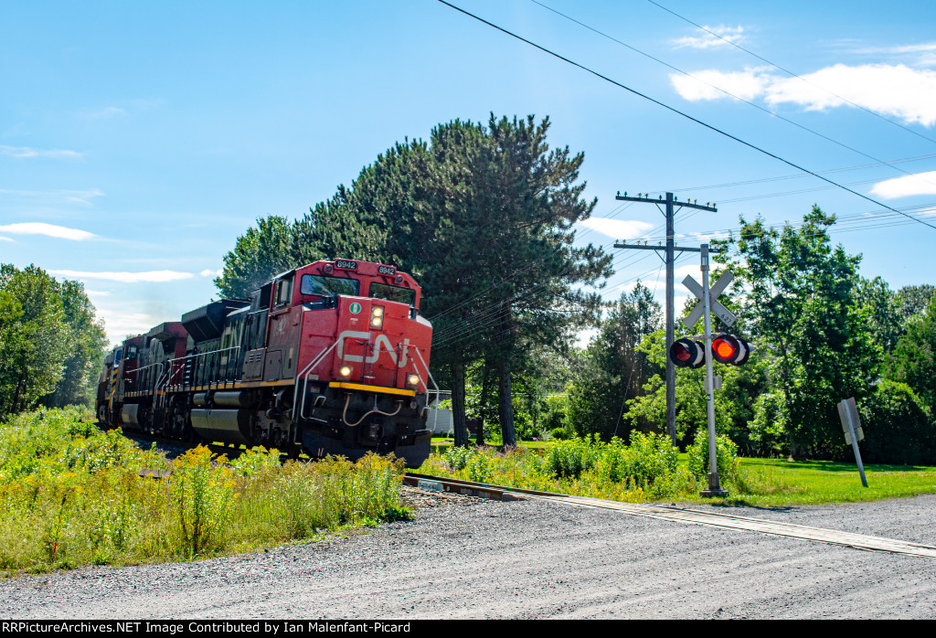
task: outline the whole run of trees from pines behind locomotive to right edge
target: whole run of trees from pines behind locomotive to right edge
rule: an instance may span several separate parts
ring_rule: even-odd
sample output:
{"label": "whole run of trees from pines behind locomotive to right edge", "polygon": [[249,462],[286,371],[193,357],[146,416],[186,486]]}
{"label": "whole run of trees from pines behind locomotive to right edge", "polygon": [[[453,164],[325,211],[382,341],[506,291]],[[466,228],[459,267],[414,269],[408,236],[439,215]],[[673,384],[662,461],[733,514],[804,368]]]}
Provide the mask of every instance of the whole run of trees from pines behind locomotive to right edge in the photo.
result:
{"label": "whole run of trees from pines behind locomotive to right edge", "polygon": [[[468,419],[476,443],[505,446],[664,431],[662,313],[644,283],[610,304],[585,292],[612,274],[610,257],[573,246],[596,200],[582,198],[583,154],[550,149],[548,127],[491,115],[397,143],[302,218],[258,219],[215,283],[245,297],[285,269],[343,256],[412,273],[460,445]],[[838,458],[850,450],[835,405],[854,396],[869,461],[936,463],[934,288],[861,277],[860,255],[832,245],[834,224],[818,207],[796,226],[741,218],[713,243],[736,275],[724,299],[741,317],[732,332],[756,346],[743,367],[716,364],[717,427],[748,454]],[[578,350],[589,327],[597,334]],[[678,370],[681,445],[706,424],[702,388],[702,370]]]}

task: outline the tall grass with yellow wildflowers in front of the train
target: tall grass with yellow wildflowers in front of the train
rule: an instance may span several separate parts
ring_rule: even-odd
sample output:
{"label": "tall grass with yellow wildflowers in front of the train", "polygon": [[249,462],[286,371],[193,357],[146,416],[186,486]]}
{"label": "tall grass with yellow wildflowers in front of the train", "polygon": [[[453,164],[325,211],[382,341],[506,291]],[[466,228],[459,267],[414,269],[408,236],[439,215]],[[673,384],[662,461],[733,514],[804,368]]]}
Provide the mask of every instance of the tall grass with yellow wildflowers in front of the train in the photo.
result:
{"label": "tall grass with yellow wildflowers in front of the train", "polygon": [[281,464],[276,450],[228,460],[198,446],[170,462],[83,416],[0,424],[0,574],[207,558],[408,516],[402,461]]}

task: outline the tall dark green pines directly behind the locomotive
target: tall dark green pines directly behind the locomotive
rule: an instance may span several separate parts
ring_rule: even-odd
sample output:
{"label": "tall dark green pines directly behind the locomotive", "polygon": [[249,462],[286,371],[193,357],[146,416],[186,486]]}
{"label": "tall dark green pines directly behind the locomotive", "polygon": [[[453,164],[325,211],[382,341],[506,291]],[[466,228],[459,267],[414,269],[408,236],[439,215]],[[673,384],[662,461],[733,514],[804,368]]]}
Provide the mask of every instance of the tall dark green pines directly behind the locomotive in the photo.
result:
{"label": "tall dark green pines directly behind the locomotive", "polygon": [[537,359],[569,354],[602,308],[580,286],[611,274],[600,248],[572,245],[572,226],[596,200],[581,196],[583,154],[550,149],[548,128],[548,118],[491,115],[487,125],[455,120],[426,141],[397,143],[301,219],[257,220],[215,283],[222,295],[244,297],[323,257],[411,273],[433,325],[432,368],[452,391],[457,442],[468,442],[465,391],[479,375],[501,439],[514,446],[515,382]]}

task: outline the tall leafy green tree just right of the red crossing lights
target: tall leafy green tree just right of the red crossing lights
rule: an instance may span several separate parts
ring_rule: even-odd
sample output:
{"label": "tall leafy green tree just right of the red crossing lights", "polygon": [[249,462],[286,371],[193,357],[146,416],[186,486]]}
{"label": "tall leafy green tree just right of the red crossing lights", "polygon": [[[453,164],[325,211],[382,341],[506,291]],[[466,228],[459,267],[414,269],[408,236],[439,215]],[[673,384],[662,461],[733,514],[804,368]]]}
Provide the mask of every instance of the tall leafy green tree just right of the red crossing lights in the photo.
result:
{"label": "tall leafy green tree just right of the red crossing lights", "polygon": [[818,207],[798,227],[777,230],[741,219],[728,261],[750,292],[743,312],[753,340],[772,349],[773,384],[789,410],[791,453],[841,454],[836,403],[862,399],[880,366],[870,329],[870,304],[859,298],[860,255],[833,247],[835,217]]}

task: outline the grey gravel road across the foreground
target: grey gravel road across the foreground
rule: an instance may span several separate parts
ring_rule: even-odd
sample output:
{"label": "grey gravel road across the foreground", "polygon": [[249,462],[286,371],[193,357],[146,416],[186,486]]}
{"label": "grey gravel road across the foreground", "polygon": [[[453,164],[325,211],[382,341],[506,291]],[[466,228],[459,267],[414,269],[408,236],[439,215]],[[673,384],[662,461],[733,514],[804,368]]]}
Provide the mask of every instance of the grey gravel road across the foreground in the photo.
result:
{"label": "grey gravel road across the foreground", "polygon": [[[320,544],[7,580],[0,616],[936,617],[933,558],[534,500],[419,498],[435,506],[413,521]],[[730,512],[936,545],[936,496]]]}

